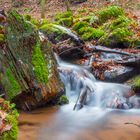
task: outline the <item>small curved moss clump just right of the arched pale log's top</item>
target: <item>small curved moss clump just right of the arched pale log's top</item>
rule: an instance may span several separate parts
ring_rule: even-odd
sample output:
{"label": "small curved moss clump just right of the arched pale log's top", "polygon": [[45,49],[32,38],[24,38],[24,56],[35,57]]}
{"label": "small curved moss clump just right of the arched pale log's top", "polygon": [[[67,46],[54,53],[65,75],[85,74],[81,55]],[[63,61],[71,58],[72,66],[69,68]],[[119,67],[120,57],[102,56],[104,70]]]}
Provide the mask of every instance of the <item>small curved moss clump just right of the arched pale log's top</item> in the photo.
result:
{"label": "small curved moss clump just right of the arched pale log's top", "polygon": [[88,27],[89,24],[86,21],[79,21],[73,25],[73,30],[75,30],[79,34],[79,30],[83,27]]}

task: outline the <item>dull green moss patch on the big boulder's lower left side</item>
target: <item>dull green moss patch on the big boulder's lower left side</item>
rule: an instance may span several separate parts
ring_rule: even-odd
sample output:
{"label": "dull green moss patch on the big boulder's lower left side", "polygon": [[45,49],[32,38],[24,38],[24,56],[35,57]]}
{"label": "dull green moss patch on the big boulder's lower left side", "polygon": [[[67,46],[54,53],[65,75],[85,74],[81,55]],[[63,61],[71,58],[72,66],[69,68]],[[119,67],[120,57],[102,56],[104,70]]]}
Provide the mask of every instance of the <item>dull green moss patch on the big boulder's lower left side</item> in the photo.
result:
{"label": "dull green moss patch on the big boulder's lower left side", "polygon": [[9,100],[12,100],[21,92],[21,87],[10,69],[7,69],[3,75],[2,84],[4,85]]}

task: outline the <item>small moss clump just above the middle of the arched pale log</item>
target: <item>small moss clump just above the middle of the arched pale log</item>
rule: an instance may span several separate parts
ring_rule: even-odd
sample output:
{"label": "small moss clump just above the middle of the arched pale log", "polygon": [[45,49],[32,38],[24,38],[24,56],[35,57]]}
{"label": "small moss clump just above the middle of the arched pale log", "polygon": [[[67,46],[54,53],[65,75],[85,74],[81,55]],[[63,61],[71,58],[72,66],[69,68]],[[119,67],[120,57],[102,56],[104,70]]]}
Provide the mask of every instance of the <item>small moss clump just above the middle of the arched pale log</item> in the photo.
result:
{"label": "small moss clump just above the middle of the arched pale log", "polygon": [[70,27],[73,24],[73,18],[69,17],[69,18],[61,18],[58,23],[62,26],[67,26]]}

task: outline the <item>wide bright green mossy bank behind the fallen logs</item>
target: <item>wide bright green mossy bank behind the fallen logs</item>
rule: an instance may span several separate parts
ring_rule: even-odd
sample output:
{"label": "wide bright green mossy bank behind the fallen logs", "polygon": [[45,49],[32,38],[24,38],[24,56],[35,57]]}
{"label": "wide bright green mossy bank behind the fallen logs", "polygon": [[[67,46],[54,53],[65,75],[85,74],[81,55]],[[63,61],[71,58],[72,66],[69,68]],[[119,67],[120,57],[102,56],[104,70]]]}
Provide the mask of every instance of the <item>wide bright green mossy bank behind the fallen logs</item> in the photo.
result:
{"label": "wide bright green mossy bank behind the fallen logs", "polygon": [[[59,42],[64,35],[55,25],[66,26],[76,32],[84,41],[96,40],[97,44],[108,47],[135,47],[140,45],[137,35],[138,22],[130,19],[119,6],[107,6],[102,9],[89,10],[81,8],[75,13],[66,11],[54,16],[54,21],[36,20],[28,15],[27,20]],[[135,26],[134,26],[135,25]],[[52,35],[53,34],[53,35]]]}

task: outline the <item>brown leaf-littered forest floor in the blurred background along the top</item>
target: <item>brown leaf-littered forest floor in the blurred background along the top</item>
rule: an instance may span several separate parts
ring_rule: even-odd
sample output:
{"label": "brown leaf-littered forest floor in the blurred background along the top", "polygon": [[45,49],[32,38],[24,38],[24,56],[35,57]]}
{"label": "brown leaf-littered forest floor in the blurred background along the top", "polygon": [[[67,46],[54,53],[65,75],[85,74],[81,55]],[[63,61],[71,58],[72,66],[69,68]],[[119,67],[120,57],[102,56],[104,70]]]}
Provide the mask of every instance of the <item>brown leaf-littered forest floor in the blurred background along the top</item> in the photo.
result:
{"label": "brown leaf-littered forest floor in the blurred background along the top", "polygon": [[[17,0],[18,1],[18,0]],[[40,18],[40,5],[39,0],[24,0],[24,4],[16,7],[22,14],[31,14],[35,18]],[[81,8],[102,8],[106,5],[117,4],[122,6],[127,12],[136,15],[140,21],[140,0],[114,0],[115,2],[107,2],[106,0],[87,0],[87,2],[81,4],[71,4],[70,9],[75,12]],[[119,1],[119,2],[116,2]],[[11,0],[0,0],[0,9],[8,11],[11,7]],[[58,13],[66,11],[66,5],[63,0],[50,0],[46,3],[46,18],[52,19],[52,17]]]}

